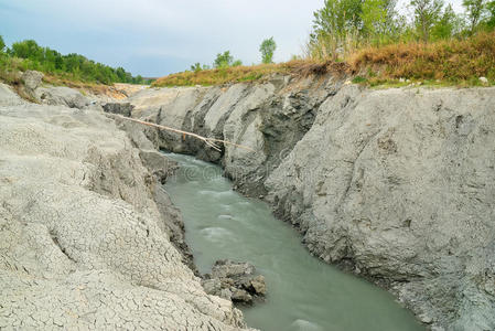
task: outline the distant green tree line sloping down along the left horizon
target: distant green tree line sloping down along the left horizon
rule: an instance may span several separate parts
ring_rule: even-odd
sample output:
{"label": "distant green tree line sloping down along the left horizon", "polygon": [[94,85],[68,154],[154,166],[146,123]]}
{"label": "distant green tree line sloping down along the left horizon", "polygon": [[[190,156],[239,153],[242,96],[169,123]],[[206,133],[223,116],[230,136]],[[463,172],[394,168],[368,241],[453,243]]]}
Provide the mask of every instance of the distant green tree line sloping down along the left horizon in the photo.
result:
{"label": "distant green tree line sloping down along the left horizon", "polygon": [[0,35],[0,66],[3,68],[40,71],[53,75],[65,75],[71,79],[110,85],[112,83],[150,84],[140,75],[132,76],[122,67],[88,60],[84,55],[71,53],[62,55],[50,47],[40,46],[34,40],[15,42],[7,47]]}

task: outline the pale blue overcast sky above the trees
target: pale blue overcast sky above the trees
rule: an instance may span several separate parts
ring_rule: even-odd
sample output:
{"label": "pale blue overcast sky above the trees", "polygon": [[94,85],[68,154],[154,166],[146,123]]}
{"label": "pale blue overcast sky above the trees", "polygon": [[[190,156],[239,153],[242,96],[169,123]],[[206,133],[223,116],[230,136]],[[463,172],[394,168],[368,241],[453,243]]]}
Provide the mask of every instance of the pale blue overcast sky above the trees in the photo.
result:
{"label": "pale blue overcast sky above the trees", "polygon": [[[401,0],[402,2],[406,0]],[[245,64],[260,61],[273,36],[276,62],[301,54],[313,12],[323,0],[0,0],[7,44],[40,45],[162,76],[195,62],[212,64],[226,50]],[[461,9],[461,0],[448,1]]]}

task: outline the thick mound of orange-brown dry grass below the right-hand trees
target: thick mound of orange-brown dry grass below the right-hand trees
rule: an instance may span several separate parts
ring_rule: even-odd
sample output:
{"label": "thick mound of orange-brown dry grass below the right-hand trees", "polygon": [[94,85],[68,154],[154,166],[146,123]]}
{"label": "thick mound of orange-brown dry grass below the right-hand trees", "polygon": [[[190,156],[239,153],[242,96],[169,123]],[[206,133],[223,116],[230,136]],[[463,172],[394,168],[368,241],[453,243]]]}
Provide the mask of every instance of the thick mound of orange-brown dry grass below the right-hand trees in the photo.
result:
{"label": "thick mound of orange-brown dry grass below the right-hand trees", "polygon": [[495,82],[495,32],[466,40],[368,47],[349,56],[348,63],[372,81],[410,78],[478,85],[484,76]]}

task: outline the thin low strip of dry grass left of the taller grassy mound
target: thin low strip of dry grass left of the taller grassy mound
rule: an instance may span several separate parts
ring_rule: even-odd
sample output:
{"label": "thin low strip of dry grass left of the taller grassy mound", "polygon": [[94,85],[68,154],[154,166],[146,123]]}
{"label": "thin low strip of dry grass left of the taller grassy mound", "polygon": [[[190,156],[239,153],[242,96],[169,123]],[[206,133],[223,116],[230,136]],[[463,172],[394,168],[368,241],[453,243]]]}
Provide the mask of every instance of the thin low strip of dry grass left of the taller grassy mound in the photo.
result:
{"label": "thin low strip of dry grass left of the taller grassy mound", "polygon": [[349,71],[346,63],[333,61],[294,60],[279,64],[259,64],[252,66],[234,66],[200,72],[183,72],[158,78],[152,86],[194,86],[223,85],[240,82],[259,82],[273,74],[292,74],[300,76],[341,74]]}

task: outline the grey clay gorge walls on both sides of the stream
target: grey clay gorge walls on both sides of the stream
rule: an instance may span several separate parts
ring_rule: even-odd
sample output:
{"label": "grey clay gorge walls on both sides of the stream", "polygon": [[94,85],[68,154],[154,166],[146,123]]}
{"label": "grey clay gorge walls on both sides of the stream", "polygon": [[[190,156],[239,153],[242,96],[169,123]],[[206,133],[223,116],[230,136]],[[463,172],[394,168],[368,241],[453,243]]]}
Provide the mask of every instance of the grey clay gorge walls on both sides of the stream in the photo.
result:
{"label": "grey clay gorge walls on both sides of the stream", "polygon": [[495,329],[495,88],[273,75],[116,100],[40,81],[40,104],[0,85],[1,329],[251,327],[202,287],[160,150],[220,166],[427,329]]}

